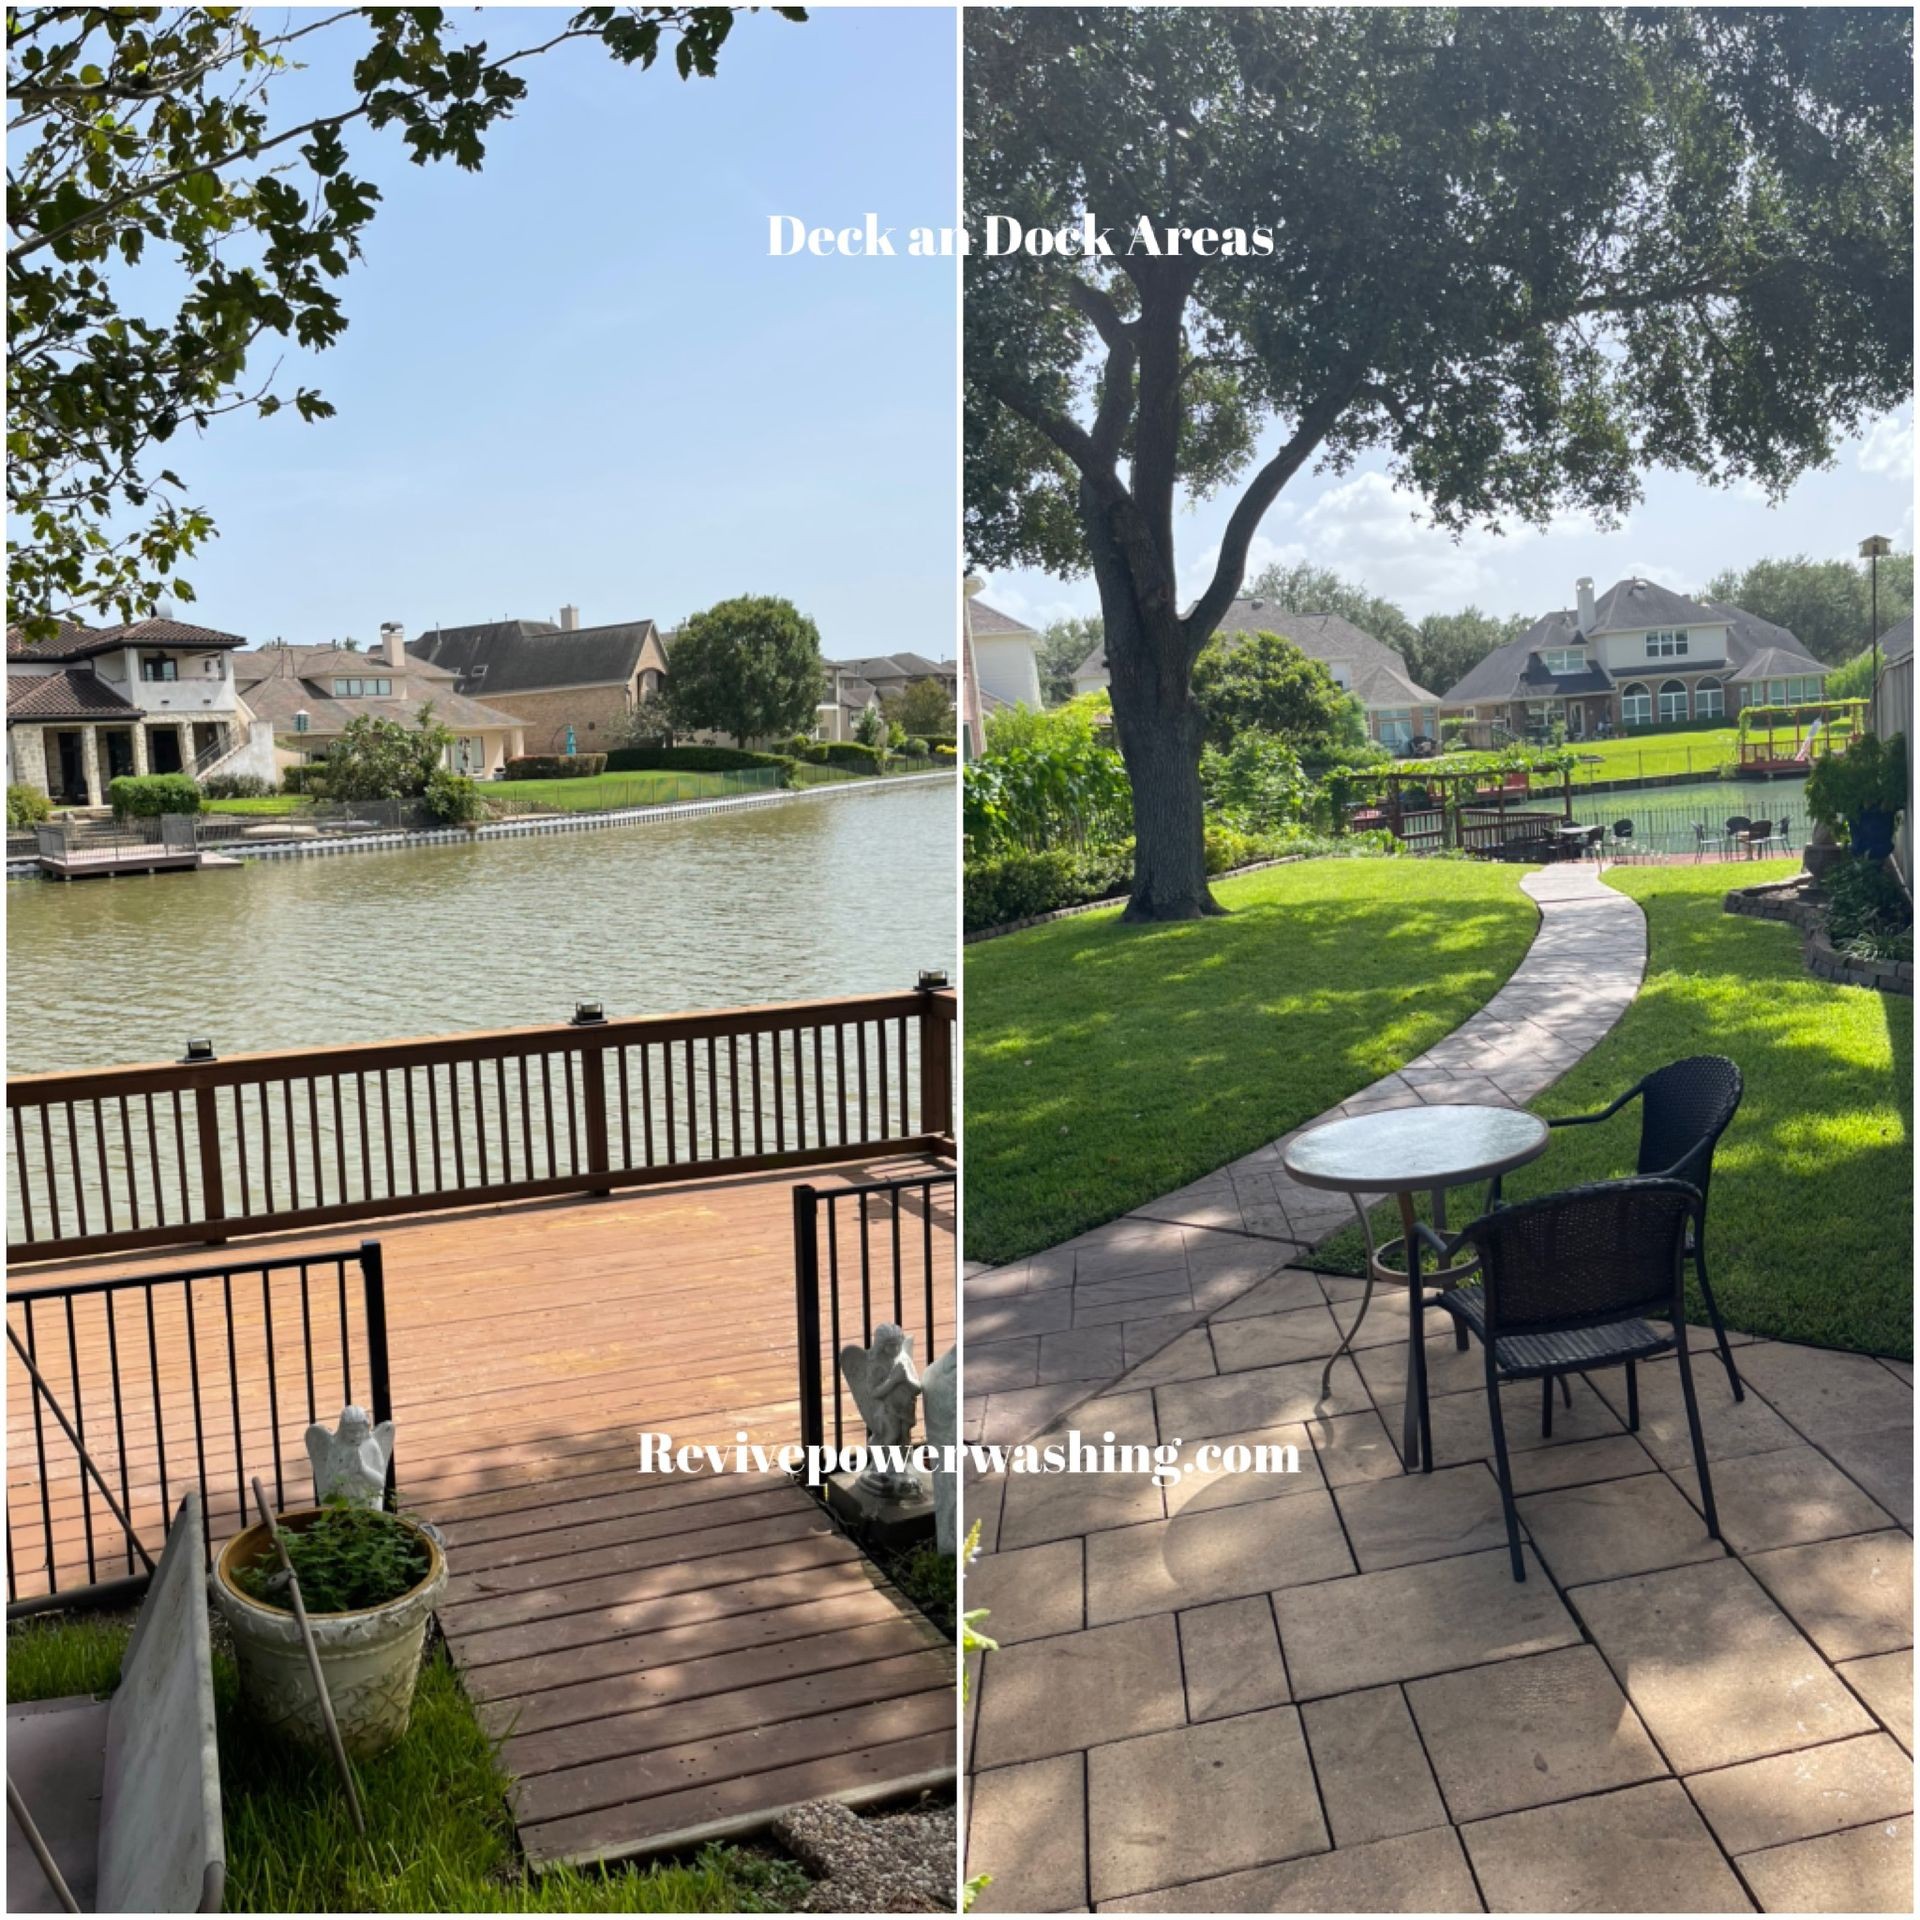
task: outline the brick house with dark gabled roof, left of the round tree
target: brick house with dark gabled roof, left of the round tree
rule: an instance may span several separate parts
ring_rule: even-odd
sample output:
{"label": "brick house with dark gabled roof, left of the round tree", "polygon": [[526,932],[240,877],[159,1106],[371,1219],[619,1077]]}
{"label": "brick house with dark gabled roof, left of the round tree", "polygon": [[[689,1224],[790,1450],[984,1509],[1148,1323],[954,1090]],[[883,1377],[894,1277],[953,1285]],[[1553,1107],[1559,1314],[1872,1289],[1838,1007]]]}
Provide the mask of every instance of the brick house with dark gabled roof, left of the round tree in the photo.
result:
{"label": "brick house with dark gabled roof, left of the round tree", "polygon": [[407,643],[453,674],[455,691],[515,714],[528,753],[605,753],[628,737],[634,708],[666,685],[672,636],[653,620],[582,626],[578,607],[555,620],[436,626]]}

